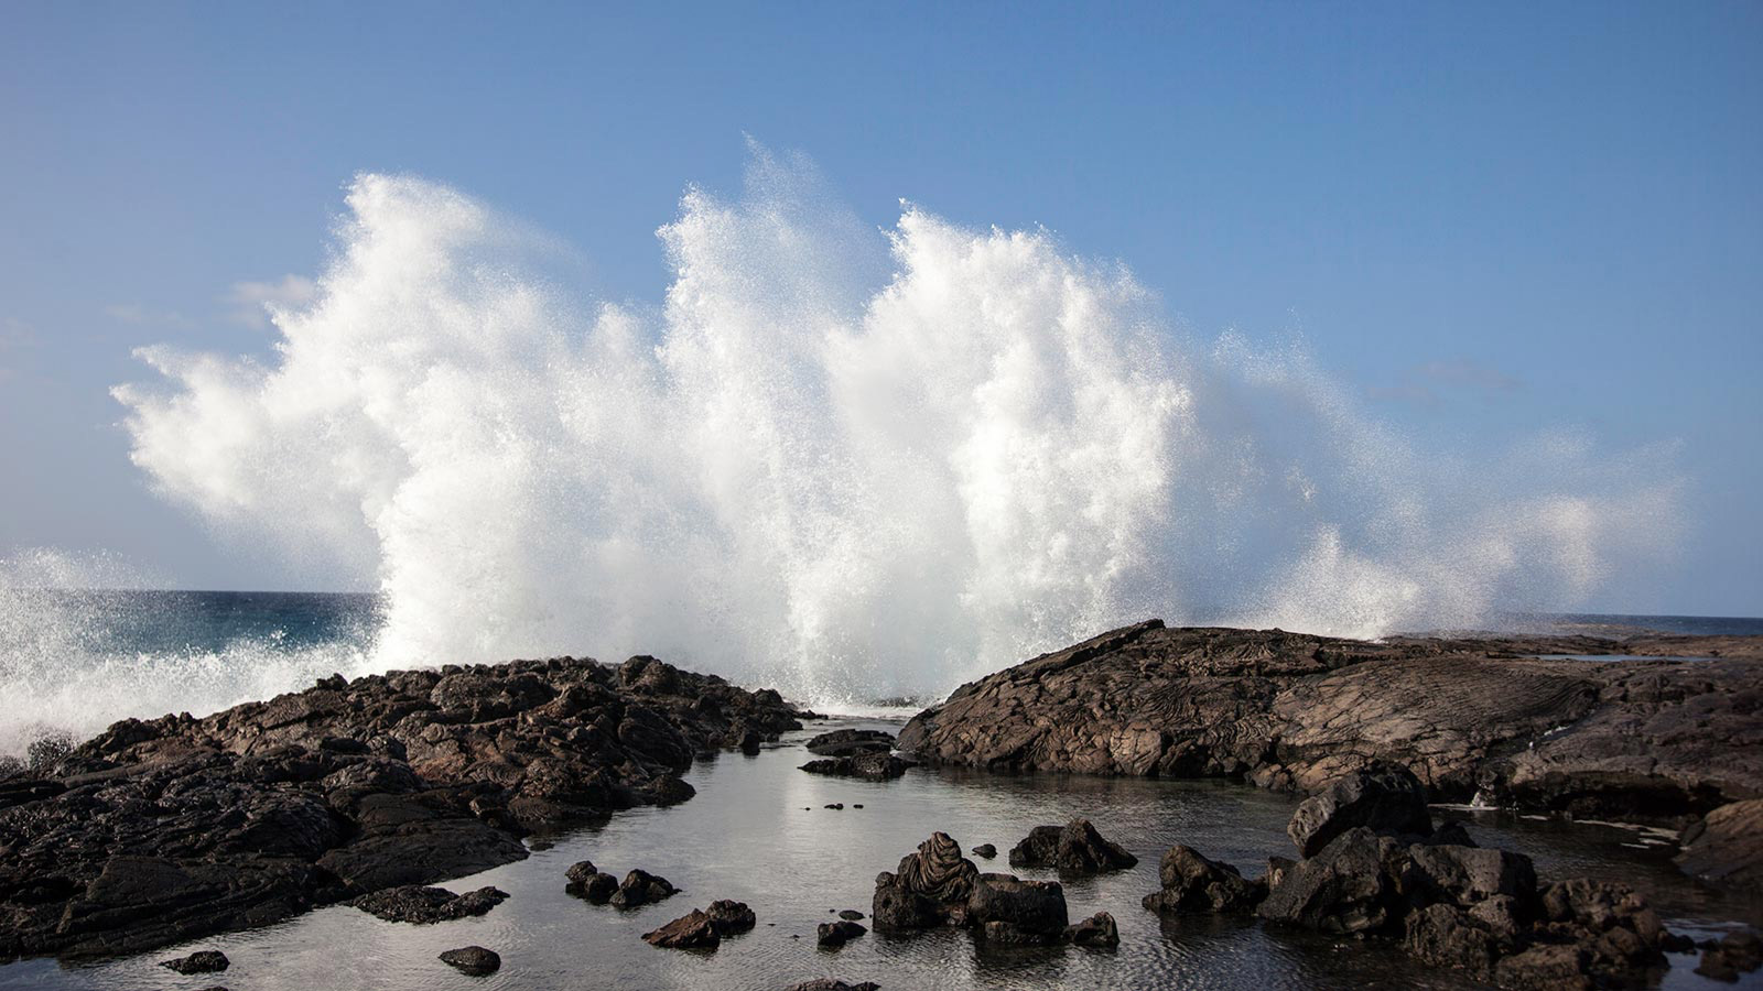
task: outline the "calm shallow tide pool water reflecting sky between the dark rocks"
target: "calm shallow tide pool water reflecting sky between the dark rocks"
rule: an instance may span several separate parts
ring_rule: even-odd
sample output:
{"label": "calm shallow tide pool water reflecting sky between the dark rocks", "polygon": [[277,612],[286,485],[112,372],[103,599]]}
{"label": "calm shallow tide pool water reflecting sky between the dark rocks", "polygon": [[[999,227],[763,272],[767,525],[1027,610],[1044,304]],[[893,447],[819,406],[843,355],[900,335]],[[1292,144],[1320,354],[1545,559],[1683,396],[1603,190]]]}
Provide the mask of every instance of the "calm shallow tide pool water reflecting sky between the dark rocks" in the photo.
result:
{"label": "calm shallow tide pool water reflecting sky between the dark rocks", "polygon": [[[846,725],[846,723],[834,723]],[[852,723],[897,728],[897,723]],[[698,795],[675,808],[633,809],[598,827],[532,841],[518,864],[450,882],[455,890],[494,883],[511,898],[481,919],[407,926],[347,906],[321,908],[250,933],[102,965],[55,961],[0,966],[0,987],[197,989],[314,987],[619,987],[777,989],[811,977],[876,980],[903,987],[1474,987],[1449,972],[1409,963],[1384,947],[1268,931],[1253,922],[1167,922],[1139,906],[1157,887],[1157,861],[1172,843],[1257,875],[1269,853],[1291,853],[1285,820],[1296,799],[1216,781],[1142,781],[1077,776],[991,776],[915,769],[887,783],[797,771],[815,732],[790,734],[758,756],[721,755],[688,776]],[[827,802],[844,802],[830,811]],[[862,804],[862,809],[853,808]],[[971,848],[994,843],[982,869],[1010,871],[1003,852],[1030,827],[1091,816],[1139,857],[1139,866],[1065,883],[1072,920],[1098,910],[1120,922],[1118,950],[1072,947],[991,950],[968,933],[890,938],[871,931],[841,950],[822,950],[815,926],[839,908],[867,915],[874,875],[894,869],[931,831]],[[1469,822],[1477,841],[1523,850],[1543,876],[1599,875],[1645,890],[1694,933],[1763,920],[1758,905],[1722,898],[1682,878],[1668,850],[1636,848],[1631,829],[1534,822],[1500,813],[1440,809]],[[661,905],[621,912],[564,894],[564,869],[591,859],[622,875],[643,868],[682,887]],[[1054,878],[1051,871],[1015,871]],[[753,933],[716,952],[663,950],[640,936],[718,898],[758,913]],[[866,920],[867,924],[867,920]],[[446,949],[480,943],[502,956],[488,979],[439,963]],[[220,949],[224,975],[180,977],[157,961]],[[1666,987],[1714,986],[1673,957]],[[1758,977],[1758,975],[1751,975]]]}

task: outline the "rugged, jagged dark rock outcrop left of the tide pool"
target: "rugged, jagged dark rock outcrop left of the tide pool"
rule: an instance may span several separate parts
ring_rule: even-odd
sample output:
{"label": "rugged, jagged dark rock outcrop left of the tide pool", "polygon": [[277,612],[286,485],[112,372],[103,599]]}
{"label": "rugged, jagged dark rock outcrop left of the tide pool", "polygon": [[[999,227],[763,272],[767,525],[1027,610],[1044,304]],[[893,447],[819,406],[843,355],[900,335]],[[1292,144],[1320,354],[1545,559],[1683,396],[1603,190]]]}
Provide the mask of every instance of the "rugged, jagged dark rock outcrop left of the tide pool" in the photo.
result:
{"label": "rugged, jagged dark rock outcrop left of the tide pool", "polygon": [[525,857],[811,716],[654,658],[323,679],[0,771],[0,959],[145,950]]}

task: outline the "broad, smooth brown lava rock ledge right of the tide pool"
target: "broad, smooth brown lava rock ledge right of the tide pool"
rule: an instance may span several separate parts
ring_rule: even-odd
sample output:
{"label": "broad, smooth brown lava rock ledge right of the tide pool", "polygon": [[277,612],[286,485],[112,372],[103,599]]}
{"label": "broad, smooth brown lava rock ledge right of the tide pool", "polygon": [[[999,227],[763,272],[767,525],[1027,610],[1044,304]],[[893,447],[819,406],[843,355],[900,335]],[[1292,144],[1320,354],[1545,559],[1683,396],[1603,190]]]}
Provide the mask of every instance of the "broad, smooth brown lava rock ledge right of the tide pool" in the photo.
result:
{"label": "broad, smooth brown lava rock ledge right of the tide pool", "polygon": [[[1479,794],[1525,811],[1682,823],[1763,799],[1758,711],[1758,637],[1368,644],[1148,621],[968,682],[915,716],[897,742],[929,764],[1241,778],[1310,794],[1359,771],[1405,767],[1433,801]],[[1698,855],[1714,864],[1738,832],[1708,829]],[[1717,875],[1745,876],[1708,871]]]}

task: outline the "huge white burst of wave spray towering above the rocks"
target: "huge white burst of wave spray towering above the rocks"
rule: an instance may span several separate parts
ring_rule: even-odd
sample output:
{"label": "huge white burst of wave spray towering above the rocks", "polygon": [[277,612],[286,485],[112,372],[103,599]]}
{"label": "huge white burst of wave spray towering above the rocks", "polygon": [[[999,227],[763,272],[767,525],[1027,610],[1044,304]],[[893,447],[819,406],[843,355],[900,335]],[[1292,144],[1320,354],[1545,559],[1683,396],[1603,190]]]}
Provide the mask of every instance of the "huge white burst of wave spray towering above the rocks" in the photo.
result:
{"label": "huge white burst of wave spray towering above the rocks", "polygon": [[1567,610],[1673,540],[1657,466],[1417,451],[1301,349],[1190,340],[1044,231],[876,233],[763,152],[661,227],[659,309],[580,298],[566,249],[443,185],[347,206],[273,360],[153,347],[164,381],[116,399],[164,497],[377,580],[377,667],[652,652],[936,693],[1146,615]]}

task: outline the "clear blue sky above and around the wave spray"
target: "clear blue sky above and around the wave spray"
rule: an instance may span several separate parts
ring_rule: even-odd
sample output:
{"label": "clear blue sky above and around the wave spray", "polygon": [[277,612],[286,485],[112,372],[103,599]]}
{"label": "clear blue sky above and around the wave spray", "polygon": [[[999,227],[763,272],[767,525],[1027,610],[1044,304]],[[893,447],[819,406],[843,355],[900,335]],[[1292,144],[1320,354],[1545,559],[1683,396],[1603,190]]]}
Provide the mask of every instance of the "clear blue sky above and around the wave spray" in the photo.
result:
{"label": "clear blue sky above and around the wave spray", "polygon": [[[363,171],[659,300],[746,139],[1120,259],[1183,332],[1301,335],[1417,443],[1550,428],[1689,478],[1599,612],[1763,615],[1763,4],[0,2],[0,555],[287,587],[129,464],[155,342],[268,354]],[[1640,451],[1640,455],[1636,455]]]}

